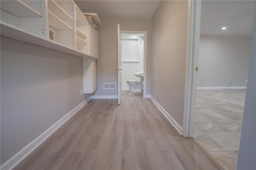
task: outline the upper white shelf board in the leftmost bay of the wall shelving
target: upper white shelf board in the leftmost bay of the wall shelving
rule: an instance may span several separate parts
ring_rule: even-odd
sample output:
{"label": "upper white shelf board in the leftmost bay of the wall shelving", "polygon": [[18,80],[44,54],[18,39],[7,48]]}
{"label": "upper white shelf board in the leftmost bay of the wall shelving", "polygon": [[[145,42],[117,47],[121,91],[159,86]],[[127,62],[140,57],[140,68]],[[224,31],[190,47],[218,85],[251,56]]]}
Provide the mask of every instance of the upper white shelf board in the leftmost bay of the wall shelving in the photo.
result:
{"label": "upper white shelf board in the leftmost bay of the wall shelving", "polygon": [[34,10],[21,0],[0,0],[2,10],[18,17],[41,17],[40,12]]}

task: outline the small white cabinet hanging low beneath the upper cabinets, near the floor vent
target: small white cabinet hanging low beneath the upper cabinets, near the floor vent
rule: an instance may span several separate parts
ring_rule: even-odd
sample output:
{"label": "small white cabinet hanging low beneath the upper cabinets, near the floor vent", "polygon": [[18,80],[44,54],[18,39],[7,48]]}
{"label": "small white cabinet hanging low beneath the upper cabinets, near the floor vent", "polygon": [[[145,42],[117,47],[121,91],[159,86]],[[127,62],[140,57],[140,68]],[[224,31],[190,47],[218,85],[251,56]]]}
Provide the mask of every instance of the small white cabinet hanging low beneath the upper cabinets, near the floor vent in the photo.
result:
{"label": "small white cabinet hanging low beneath the upper cabinets, near the floor vent", "polygon": [[96,91],[96,61],[83,59],[84,93],[92,94]]}

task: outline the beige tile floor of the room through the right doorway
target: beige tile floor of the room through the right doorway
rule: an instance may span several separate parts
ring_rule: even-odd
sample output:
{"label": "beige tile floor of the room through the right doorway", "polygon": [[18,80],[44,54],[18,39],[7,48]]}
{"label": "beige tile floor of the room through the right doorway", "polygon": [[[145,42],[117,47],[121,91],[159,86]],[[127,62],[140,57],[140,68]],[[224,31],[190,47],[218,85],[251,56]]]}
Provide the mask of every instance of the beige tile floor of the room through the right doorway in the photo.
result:
{"label": "beige tile floor of the room through the right doorway", "polygon": [[236,169],[245,89],[198,90],[194,140],[224,169]]}

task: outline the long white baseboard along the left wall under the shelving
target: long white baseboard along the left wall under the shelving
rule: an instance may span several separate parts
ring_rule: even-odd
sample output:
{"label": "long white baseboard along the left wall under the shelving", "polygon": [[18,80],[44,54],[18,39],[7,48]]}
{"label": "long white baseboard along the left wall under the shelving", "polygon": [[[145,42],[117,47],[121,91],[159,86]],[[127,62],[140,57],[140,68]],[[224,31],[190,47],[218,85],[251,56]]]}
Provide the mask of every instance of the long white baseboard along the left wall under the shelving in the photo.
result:
{"label": "long white baseboard along the left wall under the shelving", "polygon": [[27,146],[22,148],[18,153],[16,153],[12,158],[7,160],[1,166],[1,170],[10,170],[13,169],[16,165],[18,165],[24,158],[26,158],[33,150],[35,150],[44,140],[46,140],[52,133],[54,133],[59,127],[61,127],[70,117],[72,117],[77,111],[79,111],[88,101],[90,101],[91,97],[88,97],[85,101],[76,106],[72,111],[54,123],[50,128],[45,130],[40,136],[35,138],[32,142],[30,142]]}

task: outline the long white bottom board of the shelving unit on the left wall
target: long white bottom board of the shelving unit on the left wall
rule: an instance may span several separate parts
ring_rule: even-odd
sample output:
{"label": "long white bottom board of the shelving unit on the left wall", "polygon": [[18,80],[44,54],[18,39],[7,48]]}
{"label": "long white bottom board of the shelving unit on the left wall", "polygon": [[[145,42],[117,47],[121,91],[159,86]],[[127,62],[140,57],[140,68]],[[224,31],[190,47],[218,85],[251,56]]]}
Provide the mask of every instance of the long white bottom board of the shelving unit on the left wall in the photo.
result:
{"label": "long white bottom board of the shelving unit on the left wall", "polygon": [[[68,46],[62,45],[58,42],[54,42],[53,40],[48,40],[46,38],[37,36],[36,34],[27,32],[26,30],[23,30],[21,28],[18,28],[16,26],[13,26],[11,24],[8,24],[6,22],[0,21],[0,27],[1,27],[1,36],[5,36],[8,38],[12,38],[15,40],[19,40],[22,42],[32,43],[35,45],[40,45],[42,47],[46,47],[49,49],[54,49],[56,51],[61,51],[64,53],[68,53],[71,55],[75,55],[78,57],[88,58],[96,60],[97,58],[92,57],[90,55],[87,55],[86,53],[83,53],[81,51],[78,51],[76,49],[72,49]],[[26,40],[27,39],[27,40]],[[29,40],[30,39],[30,40]],[[32,39],[36,40],[33,41]],[[32,40],[32,41],[31,41]]]}

